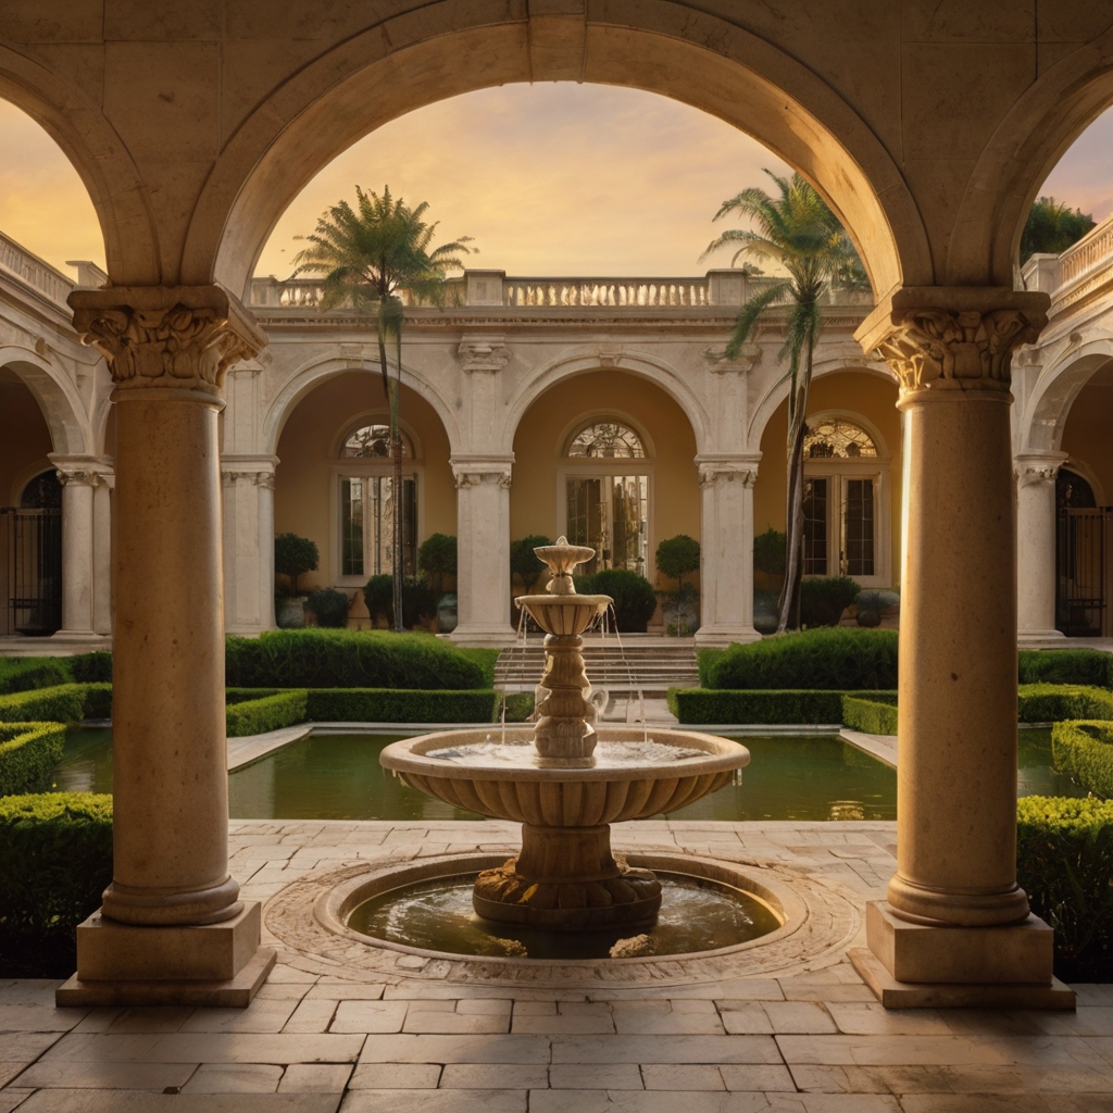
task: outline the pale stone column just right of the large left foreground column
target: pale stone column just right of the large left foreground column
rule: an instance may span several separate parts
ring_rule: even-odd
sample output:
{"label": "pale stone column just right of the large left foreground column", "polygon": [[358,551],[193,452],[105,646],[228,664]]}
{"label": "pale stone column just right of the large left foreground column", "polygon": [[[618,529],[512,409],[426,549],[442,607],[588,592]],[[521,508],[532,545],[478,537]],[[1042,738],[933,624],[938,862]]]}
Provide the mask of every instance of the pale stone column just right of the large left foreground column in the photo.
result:
{"label": "pale stone column just right of the large left foreground column", "polygon": [[274,489],[277,456],[225,454],[224,583],[228,633],[275,628]]}

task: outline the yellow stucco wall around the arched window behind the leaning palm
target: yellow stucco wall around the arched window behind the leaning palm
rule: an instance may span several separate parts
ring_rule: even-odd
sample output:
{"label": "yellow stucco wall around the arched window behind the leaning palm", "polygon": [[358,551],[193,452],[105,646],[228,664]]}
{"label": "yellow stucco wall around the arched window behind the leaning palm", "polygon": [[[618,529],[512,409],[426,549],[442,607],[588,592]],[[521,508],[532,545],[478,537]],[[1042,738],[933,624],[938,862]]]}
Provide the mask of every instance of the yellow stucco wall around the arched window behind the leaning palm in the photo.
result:
{"label": "yellow stucco wall around the arched window behind the leaning palm", "polygon": [[[896,383],[869,372],[837,372],[811,383],[808,413],[843,410],[860,414],[881,434],[889,454],[890,534],[893,541],[893,582],[900,579],[900,413],[896,408]],[[775,411],[761,435],[761,463],[754,487],[754,532],[764,533],[770,525],[785,529],[787,464],[785,441],[788,435],[788,402]]]}

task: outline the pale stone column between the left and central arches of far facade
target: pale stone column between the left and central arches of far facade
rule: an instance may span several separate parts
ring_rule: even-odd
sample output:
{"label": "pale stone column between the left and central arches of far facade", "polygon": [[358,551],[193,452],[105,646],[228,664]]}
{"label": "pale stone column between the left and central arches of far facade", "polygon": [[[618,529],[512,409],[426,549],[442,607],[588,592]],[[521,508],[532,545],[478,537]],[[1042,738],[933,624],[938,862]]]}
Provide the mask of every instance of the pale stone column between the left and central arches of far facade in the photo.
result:
{"label": "pale stone column between the left and central arches of far facade", "polygon": [[510,482],[513,456],[453,456],[459,552],[460,620],[452,631],[462,646],[510,646]]}

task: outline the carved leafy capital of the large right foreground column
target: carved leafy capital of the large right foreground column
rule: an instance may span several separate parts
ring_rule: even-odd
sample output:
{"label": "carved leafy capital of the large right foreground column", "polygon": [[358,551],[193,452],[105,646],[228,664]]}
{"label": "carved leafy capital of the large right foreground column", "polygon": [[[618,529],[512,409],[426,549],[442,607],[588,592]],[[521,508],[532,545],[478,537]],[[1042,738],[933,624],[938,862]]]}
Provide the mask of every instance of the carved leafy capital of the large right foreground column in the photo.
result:
{"label": "carved leafy capital of the large right foreground column", "polygon": [[973,391],[1007,397],[1013,352],[1040,335],[1047,305],[1046,294],[995,286],[905,287],[856,336],[893,370],[903,400]]}

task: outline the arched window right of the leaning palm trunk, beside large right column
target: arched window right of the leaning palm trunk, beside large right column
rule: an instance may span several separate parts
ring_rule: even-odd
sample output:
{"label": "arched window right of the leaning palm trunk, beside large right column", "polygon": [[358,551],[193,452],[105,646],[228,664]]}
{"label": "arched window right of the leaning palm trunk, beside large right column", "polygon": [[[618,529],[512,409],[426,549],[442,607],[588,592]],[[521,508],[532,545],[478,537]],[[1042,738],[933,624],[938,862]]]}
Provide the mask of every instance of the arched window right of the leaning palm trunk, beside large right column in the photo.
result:
{"label": "arched window right of the leaning palm trunk, beside large right column", "polygon": [[804,574],[888,587],[888,465],[873,435],[840,414],[816,414],[804,434]]}

